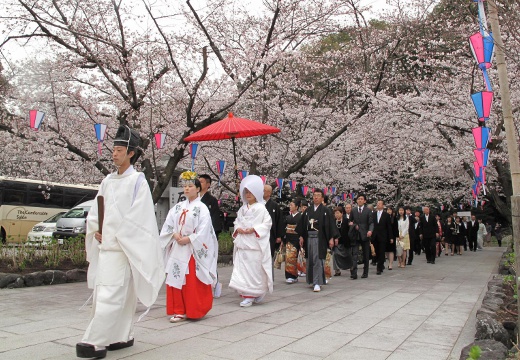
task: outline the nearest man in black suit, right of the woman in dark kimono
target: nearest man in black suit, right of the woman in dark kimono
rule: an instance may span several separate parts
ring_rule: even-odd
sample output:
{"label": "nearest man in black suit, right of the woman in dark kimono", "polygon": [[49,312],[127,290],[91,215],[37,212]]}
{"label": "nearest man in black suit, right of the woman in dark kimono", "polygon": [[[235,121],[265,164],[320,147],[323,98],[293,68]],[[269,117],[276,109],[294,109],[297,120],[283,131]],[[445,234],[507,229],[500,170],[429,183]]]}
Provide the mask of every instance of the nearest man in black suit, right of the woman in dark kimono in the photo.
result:
{"label": "nearest man in black suit, right of the woman in dark kimono", "polygon": [[[356,202],[358,207],[352,210],[352,218],[356,223],[356,229],[359,231],[361,237],[361,249],[363,251],[363,275],[362,278],[368,277],[368,267],[370,263],[370,237],[374,230],[374,223],[372,220],[372,211],[365,205],[366,197],[364,194],[359,194]],[[353,269],[350,277],[357,278],[357,261],[353,264]]]}

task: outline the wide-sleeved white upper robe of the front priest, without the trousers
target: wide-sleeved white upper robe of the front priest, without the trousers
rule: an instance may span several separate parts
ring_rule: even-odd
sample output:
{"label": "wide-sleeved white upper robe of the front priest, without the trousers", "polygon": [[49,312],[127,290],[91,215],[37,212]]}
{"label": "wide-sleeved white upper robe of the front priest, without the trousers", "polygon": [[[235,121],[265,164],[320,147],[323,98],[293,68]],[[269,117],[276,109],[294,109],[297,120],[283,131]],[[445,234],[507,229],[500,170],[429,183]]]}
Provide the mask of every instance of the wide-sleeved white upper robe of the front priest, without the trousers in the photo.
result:
{"label": "wide-sleeved white upper robe of the front priest, without the trousers", "polygon": [[[150,307],[164,282],[164,264],[152,194],[144,174],[133,166],[122,175],[112,173],[101,182],[97,196],[100,195],[105,204],[101,244],[94,238],[99,230],[97,201],[87,216],[88,287],[93,289],[97,284],[100,251],[124,252],[137,297]],[[109,268],[109,264],[105,265],[104,269]]]}

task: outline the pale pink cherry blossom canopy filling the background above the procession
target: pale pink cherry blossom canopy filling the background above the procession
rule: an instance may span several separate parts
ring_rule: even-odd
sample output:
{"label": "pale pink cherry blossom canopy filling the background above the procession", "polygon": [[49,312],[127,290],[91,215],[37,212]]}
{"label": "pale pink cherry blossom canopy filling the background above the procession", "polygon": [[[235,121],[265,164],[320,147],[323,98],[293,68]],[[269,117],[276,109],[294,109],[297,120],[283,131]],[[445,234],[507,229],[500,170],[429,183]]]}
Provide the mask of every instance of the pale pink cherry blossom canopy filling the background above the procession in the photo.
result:
{"label": "pale pink cherry blossom canopy filling the background above the procession", "polygon": [[[174,170],[189,167],[183,138],[233,111],[281,128],[237,140],[239,168],[270,182],[458,206],[472,184],[477,120],[469,95],[482,90],[467,45],[478,29],[476,7],[395,1],[370,20],[362,3],[264,1],[251,12],[233,1],[13,1],[2,46],[37,37],[47,50],[44,60],[17,68],[9,116],[0,123],[0,141],[16,144],[0,156],[23,152],[37,161],[2,171],[99,181],[111,170],[110,146],[96,154],[92,125],[109,124],[109,141],[128,123],[147,140],[140,165],[158,199]],[[520,12],[509,0],[500,7],[516,78]],[[518,100],[518,83],[511,89]],[[486,199],[507,218],[497,94]],[[24,125],[34,107],[47,113],[38,133]],[[167,134],[164,149],[153,148],[154,132]],[[218,159],[231,163],[229,142],[200,146],[199,172],[215,173]],[[230,167],[223,183],[234,190]]]}

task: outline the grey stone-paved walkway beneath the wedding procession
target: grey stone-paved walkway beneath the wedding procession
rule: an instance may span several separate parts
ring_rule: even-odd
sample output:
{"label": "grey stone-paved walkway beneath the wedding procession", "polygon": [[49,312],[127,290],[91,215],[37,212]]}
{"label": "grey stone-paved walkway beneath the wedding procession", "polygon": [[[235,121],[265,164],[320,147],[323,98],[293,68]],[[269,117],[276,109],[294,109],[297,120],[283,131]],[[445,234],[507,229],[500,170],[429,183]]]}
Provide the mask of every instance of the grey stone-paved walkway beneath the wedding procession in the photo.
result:
{"label": "grey stone-paved walkway beneath the wedding procession", "polygon": [[[504,248],[442,256],[368,279],[333,277],[320,293],[284,283],[260,305],[240,308],[219,269],[222,297],[202,320],[170,324],[161,293],[135,327],[135,346],[107,359],[459,359]],[[302,278],[300,278],[302,279]],[[0,359],[75,359],[87,326],[86,283],[0,290]],[[142,305],[138,313],[144,310]]]}

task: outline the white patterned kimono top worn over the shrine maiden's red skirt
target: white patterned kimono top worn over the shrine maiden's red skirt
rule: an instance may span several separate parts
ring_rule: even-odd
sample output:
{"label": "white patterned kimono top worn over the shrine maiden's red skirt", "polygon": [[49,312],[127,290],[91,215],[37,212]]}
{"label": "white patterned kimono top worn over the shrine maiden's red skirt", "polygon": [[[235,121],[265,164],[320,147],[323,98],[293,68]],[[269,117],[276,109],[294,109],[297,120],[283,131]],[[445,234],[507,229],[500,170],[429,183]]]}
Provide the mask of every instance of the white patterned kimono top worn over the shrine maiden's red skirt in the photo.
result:
{"label": "white patterned kimono top worn over the shrine maiden's red skirt", "polygon": [[[184,215],[183,215],[184,214]],[[179,245],[172,235],[188,236],[191,243]],[[161,248],[166,264],[166,284],[182,289],[186,284],[188,264],[193,255],[197,278],[206,285],[217,281],[218,242],[209,210],[200,197],[176,204],[169,212],[161,230]]]}

